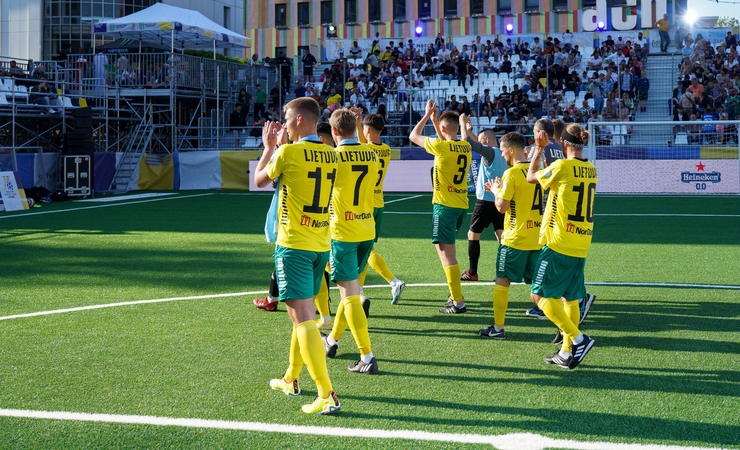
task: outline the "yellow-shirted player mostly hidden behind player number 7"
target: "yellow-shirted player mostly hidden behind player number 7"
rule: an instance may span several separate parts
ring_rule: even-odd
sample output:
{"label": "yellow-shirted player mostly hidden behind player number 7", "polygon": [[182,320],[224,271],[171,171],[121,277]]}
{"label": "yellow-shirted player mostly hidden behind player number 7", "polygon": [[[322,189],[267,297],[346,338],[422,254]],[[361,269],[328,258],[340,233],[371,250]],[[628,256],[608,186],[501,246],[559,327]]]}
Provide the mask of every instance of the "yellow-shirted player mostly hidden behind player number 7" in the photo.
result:
{"label": "yellow-shirted player mostly hidden behind player number 7", "polygon": [[[383,144],[380,140],[380,133],[385,128],[385,120],[380,114],[368,114],[365,116],[365,120],[362,120],[362,109],[353,107],[351,111],[354,113],[357,119],[357,137],[361,144],[365,144],[370,147],[378,155],[378,163],[380,168],[378,169],[378,177],[375,181],[375,203],[373,210],[373,217],[375,218],[375,242],[378,242],[380,236],[380,224],[383,220],[383,207],[385,206],[385,200],[383,198],[383,183],[385,182],[385,175],[388,171],[388,166],[391,162],[391,148],[388,144]],[[362,286],[365,285],[365,276],[367,275],[367,268],[372,267],[383,279],[391,285],[391,304],[395,305],[401,299],[406,283],[396,278],[388,268],[388,264],[385,262],[382,256],[380,256],[375,249],[370,252],[370,257],[367,260],[365,270],[360,274],[360,298],[362,299]],[[363,299],[363,302],[369,302],[370,300]],[[369,308],[369,303],[368,303]]]}

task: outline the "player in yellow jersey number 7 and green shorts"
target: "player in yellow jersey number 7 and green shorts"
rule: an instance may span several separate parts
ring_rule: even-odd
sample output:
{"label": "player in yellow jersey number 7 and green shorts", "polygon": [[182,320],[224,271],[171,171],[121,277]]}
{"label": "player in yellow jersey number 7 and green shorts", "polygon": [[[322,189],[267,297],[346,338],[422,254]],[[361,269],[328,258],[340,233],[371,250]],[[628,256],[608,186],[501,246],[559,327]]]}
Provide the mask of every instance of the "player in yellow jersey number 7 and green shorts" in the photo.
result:
{"label": "player in yellow jersey number 7 and green shorts", "polygon": [[334,111],[329,119],[338,144],[337,177],[331,198],[331,279],[339,287],[342,301],[337,307],[334,328],[323,336],[326,356],[334,358],[337,342],[349,325],[360,359],[350,372],[377,374],[367,317],[360,302],[359,273],[365,268],[375,239],[373,196],[378,156],[355,139],[355,116],[349,109]]}

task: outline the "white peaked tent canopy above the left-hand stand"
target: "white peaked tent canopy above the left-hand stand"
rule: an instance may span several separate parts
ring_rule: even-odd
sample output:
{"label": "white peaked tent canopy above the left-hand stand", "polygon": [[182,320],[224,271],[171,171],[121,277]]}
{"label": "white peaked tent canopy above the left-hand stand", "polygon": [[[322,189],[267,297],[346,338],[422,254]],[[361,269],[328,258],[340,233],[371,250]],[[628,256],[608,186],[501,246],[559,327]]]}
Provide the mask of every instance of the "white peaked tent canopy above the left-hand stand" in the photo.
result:
{"label": "white peaked tent canopy above the left-hand stand", "polygon": [[177,49],[244,48],[251,45],[249,38],[222,27],[197,11],[162,3],[120,19],[98,22],[95,33],[171,44]]}

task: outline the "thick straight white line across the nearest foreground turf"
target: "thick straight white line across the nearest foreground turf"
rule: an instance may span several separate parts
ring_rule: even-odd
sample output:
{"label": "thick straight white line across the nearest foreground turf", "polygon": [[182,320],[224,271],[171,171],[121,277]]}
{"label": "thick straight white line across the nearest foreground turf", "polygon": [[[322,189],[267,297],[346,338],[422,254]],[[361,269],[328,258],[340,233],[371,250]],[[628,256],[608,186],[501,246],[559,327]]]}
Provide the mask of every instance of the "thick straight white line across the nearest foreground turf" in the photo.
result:
{"label": "thick straight white line across the nearest foreground turf", "polygon": [[313,436],[359,437],[370,439],[408,439],[412,441],[489,444],[501,450],[541,450],[545,448],[568,448],[578,450],[703,450],[700,447],[680,447],[652,444],[615,444],[610,442],[578,442],[564,439],[551,439],[533,433],[512,433],[499,436],[486,436],[480,434],[434,433],[429,431],[415,430],[380,430],[282,425],[260,422],[235,422],[226,420],[184,419],[122,414],[88,414],[63,411],[29,411],[20,409],[0,409],[0,416],[25,419],[67,420],[77,422],[152,425],[163,427],[207,428],[218,430],[254,431],[263,433],[305,434]]}

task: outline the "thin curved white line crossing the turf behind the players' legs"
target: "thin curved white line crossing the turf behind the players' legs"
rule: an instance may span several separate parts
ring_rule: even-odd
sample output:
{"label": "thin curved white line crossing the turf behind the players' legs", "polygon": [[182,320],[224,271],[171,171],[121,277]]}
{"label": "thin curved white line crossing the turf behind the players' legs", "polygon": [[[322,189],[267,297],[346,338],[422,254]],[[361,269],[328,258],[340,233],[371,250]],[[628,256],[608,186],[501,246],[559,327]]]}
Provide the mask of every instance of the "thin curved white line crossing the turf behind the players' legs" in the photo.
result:
{"label": "thin curved white line crossing the turf behind the players' legs", "polygon": [[[493,286],[493,281],[470,281],[465,282],[465,286]],[[524,284],[524,283],[512,283],[512,284]],[[727,289],[727,290],[740,290],[740,286],[725,285],[725,284],[691,284],[691,283],[631,283],[631,282],[612,282],[612,281],[589,281],[586,282],[589,286],[631,286],[631,287],[648,287],[648,288],[696,288],[696,289]],[[406,287],[447,287],[447,283],[408,283]],[[332,290],[336,290],[337,287],[332,287]],[[363,289],[390,289],[387,284],[375,284],[369,286],[363,286]],[[209,298],[228,298],[228,297],[241,297],[245,295],[265,295],[267,291],[250,291],[250,292],[230,292],[225,294],[209,294],[209,295],[195,295],[190,297],[170,297],[170,298],[157,298],[151,300],[132,300],[128,302],[117,302],[117,303],[105,303],[101,305],[88,305],[79,306],[75,308],[65,309],[53,309],[48,311],[38,311],[33,313],[25,314],[14,314],[12,316],[0,316],[0,321],[13,320],[13,319],[24,319],[29,317],[38,316],[49,316],[53,314],[64,314],[70,312],[79,311],[90,311],[93,309],[104,309],[104,308],[117,308],[119,306],[135,306],[135,305],[147,305],[151,303],[167,303],[167,302],[178,302],[187,300],[204,300]]]}

